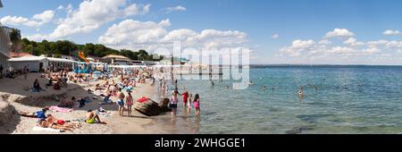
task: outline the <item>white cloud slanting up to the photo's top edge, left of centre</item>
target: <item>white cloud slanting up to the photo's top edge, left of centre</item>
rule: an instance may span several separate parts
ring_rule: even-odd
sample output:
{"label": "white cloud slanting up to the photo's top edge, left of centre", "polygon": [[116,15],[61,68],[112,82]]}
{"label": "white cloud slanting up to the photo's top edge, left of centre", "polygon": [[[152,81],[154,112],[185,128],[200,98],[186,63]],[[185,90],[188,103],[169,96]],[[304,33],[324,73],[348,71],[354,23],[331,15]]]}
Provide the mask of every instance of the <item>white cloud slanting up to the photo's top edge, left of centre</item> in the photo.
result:
{"label": "white cloud slanting up to the photo's top edge, left of centre", "polygon": [[76,33],[88,33],[97,30],[106,22],[132,15],[144,14],[150,5],[127,4],[126,0],[91,0],[84,1],[77,10],[72,10],[67,18],[49,35],[49,38],[64,38]]}

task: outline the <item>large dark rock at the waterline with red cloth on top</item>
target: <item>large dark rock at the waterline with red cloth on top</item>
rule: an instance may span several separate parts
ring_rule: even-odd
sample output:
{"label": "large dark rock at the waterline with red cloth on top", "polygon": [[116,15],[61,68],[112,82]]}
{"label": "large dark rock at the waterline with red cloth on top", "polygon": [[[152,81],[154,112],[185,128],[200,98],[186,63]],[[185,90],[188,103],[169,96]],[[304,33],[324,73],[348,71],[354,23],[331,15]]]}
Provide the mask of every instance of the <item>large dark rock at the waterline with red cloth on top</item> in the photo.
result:
{"label": "large dark rock at the waterline with red cloth on top", "polygon": [[134,104],[134,109],[147,116],[155,116],[161,113],[159,105],[147,97],[139,98]]}

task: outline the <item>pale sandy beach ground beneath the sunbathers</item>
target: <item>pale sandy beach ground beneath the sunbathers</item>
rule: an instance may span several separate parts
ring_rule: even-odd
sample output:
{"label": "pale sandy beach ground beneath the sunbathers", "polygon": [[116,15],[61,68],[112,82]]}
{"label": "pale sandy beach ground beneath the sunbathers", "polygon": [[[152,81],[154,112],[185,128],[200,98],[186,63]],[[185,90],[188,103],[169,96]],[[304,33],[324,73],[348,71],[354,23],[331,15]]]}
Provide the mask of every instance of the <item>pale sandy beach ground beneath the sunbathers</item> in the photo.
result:
{"label": "pale sandy beach ground beneath the sunbathers", "polygon": [[[23,76],[19,76],[16,79],[1,79],[0,80],[0,97],[4,98],[2,105],[7,106],[10,109],[9,116],[5,118],[6,114],[0,115],[4,121],[4,125],[0,126],[0,133],[13,133],[13,134],[154,134],[154,133],[174,133],[169,129],[162,129],[162,125],[157,125],[156,122],[161,120],[168,120],[170,118],[170,113],[161,114],[157,117],[148,117],[143,114],[139,114],[137,111],[133,110],[133,115],[131,117],[120,117],[117,113],[118,106],[113,105],[99,105],[98,102],[103,100],[99,97],[101,92],[94,92],[93,94],[88,94],[87,90],[94,90],[96,83],[105,84],[105,80],[100,80],[96,82],[91,82],[85,85],[78,85],[69,83],[67,88],[61,90],[54,90],[51,88],[46,89],[42,92],[32,92],[23,89],[24,86],[31,86],[33,81],[38,79],[40,84],[44,86],[46,84],[46,78],[40,78],[39,73],[29,73],[28,79],[25,80]],[[115,78],[118,80],[117,78]],[[157,90],[157,89],[156,89]],[[154,87],[150,86],[148,83],[138,84],[138,86],[133,90],[132,96],[136,100],[140,97],[158,97],[155,95]],[[91,102],[86,104],[86,106],[77,108],[74,107],[73,111],[70,113],[60,113],[48,111],[47,114],[52,114],[56,118],[63,119],[65,121],[71,121],[74,123],[80,123],[82,126],[80,128],[74,129],[73,131],[65,132],[54,132],[54,131],[33,131],[32,129],[37,125],[38,119],[21,117],[18,112],[29,112],[34,113],[39,111],[44,106],[57,106],[59,102],[54,101],[53,97],[57,95],[67,96],[70,99],[72,96],[80,99],[81,97],[90,97]],[[97,99],[94,99],[96,97]],[[116,99],[113,98],[115,102]],[[156,100],[155,98],[153,98]],[[85,123],[85,114],[89,109],[96,110],[99,107],[103,107],[110,114],[100,115],[100,119],[107,124],[88,124]],[[2,108],[5,109],[5,108]],[[177,133],[177,132],[176,132]]]}

